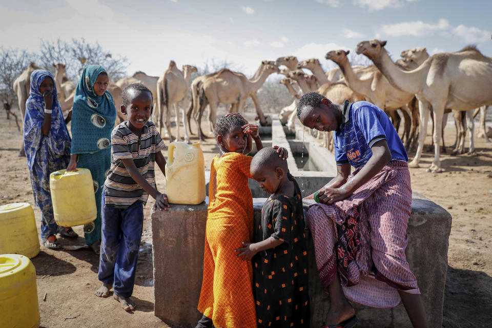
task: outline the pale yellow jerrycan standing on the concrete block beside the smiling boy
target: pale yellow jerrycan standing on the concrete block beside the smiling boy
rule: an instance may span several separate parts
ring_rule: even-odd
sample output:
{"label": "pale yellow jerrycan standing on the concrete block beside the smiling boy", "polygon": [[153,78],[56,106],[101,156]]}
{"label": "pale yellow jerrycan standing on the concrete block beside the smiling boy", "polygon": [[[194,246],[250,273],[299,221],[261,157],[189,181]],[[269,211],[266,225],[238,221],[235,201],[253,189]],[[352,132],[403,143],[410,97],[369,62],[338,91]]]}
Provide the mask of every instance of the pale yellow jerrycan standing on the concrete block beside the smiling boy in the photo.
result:
{"label": "pale yellow jerrycan standing on the concrete block beside the smiling boy", "polygon": [[205,166],[200,142],[171,142],[166,162],[166,194],[173,204],[199,204],[205,200]]}

